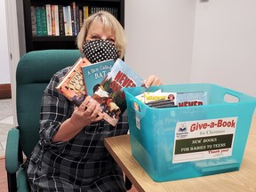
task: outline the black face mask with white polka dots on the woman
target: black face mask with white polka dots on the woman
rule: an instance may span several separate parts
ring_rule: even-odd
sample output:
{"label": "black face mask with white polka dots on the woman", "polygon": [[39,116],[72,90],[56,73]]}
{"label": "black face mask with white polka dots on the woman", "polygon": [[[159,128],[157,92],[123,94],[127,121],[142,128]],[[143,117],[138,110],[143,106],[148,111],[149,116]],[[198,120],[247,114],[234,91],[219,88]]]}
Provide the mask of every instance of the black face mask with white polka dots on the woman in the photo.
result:
{"label": "black face mask with white polka dots on the woman", "polygon": [[85,41],[83,50],[84,57],[91,63],[110,59],[116,60],[118,58],[118,51],[115,44],[108,40]]}

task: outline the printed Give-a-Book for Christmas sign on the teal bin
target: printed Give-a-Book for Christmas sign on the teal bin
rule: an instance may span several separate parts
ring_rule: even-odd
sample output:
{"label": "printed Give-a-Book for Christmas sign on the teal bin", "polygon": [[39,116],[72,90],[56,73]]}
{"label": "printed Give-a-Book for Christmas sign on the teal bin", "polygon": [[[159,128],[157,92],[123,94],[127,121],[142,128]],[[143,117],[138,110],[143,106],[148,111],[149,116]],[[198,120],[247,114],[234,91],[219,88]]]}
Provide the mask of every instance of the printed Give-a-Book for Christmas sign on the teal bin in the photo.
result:
{"label": "printed Give-a-Book for Christmas sign on the teal bin", "polygon": [[237,117],[178,122],[172,164],[232,156]]}

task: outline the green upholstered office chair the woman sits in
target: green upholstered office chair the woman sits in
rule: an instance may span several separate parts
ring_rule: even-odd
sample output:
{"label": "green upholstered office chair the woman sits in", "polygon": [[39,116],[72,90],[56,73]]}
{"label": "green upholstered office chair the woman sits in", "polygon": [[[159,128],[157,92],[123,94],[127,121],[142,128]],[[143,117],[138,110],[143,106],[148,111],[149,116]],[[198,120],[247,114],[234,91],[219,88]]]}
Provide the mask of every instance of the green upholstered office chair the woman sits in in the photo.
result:
{"label": "green upholstered office chair the woman sits in", "polygon": [[9,191],[29,191],[26,174],[20,164],[39,140],[39,115],[44,88],[51,77],[81,56],[78,50],[28,52],[20,58],[16,71],[18,126],[8,132],[5,169]]}

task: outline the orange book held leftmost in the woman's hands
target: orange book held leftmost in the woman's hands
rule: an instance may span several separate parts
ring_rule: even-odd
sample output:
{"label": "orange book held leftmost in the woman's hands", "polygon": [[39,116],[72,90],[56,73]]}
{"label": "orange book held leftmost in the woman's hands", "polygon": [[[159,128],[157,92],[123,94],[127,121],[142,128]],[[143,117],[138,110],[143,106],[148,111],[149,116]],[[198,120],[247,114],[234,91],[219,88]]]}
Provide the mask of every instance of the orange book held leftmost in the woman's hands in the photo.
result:
{"label": "orange book held leftmost in the woman's hands", "polygon": [[79,58],[56,86],[60,93],[68,98],[68,100],[72,100],[77,106],[83,102],[87,95],[82,67],[90,64],[89,60]]}

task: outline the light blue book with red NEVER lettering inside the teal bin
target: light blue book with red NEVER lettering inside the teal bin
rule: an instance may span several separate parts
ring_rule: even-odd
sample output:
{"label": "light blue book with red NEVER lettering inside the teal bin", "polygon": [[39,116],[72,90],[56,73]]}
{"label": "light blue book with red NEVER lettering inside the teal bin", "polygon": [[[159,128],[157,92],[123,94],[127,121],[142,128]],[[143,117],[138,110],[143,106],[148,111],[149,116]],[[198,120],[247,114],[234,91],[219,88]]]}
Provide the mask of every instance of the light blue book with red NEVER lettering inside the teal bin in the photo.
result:
{"label": "light blue book with red NEVER lettering inside the teal bin", "polygon": [[178,92],[178,107],[201,106],[207,104],[207,92]]}

